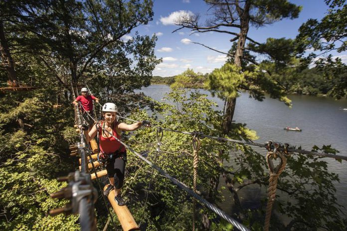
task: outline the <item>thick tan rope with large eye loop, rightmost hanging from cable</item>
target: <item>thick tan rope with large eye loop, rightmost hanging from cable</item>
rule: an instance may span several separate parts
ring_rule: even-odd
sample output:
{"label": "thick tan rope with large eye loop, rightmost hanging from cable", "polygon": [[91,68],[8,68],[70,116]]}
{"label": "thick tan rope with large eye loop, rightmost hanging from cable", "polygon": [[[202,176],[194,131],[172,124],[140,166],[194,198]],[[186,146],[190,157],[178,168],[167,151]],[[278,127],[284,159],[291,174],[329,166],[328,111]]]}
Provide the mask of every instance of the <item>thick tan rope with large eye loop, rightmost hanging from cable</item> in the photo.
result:
{"label": "thick tan rope with large eye loop, rightmost hanging from cable", "polygon": [[[281,173],[283,172],[284,168],[287,164],[287,158],[282,152],[277,152],[277,148],[280,146],[279,143],[274,143],[274,150],[269,151],[266,155],[266,161],[268,163],[269,169],[270,169],[270,177],[269,177],[269,188],[268,188],[268,203],[266,206],[266,216],[265,216],[265,224],[264,224],[264,231],[269,231],[270,227],[270,218],[271,218],[271,211],[273,204],[276,199],[276,189],[277,189],[277,180]],[[275,168],[274,164],[272,162],[273,158],[280,158],[280,164]]]}

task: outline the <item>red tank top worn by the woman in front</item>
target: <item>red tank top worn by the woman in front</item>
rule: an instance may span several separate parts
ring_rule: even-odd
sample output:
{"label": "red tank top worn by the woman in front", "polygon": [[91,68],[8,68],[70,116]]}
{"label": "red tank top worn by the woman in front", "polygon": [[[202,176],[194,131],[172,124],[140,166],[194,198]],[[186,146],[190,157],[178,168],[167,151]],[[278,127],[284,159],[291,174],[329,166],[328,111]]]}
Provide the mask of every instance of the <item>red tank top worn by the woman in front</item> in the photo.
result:
{"label": "red tank top worn by the woman in front", "polygon": [[[120,151],[125,151],[125,147],[120,142],[118,142],[114,137],[112,137],[112,136],[111,137],[104,137],[103,136],[103,132],[102,132],[101,127],[104,126],[104,123],[105,123],[105,121],[101,123],[101,126],[99,128],[100,151],[105,153],[105,154],[112,154],[115,151],[118,151],[121,148],[121,146],[122,146],[122,148]],[[116,136],[120,140],[121,136],[119,134],[117,134],[117,132],[116,132],[117,124],[118,124],[118,122],[114,123],[113,129],[112,129],[112,135]],[[104,134],[105,134],[105,132],[104,132]]]}

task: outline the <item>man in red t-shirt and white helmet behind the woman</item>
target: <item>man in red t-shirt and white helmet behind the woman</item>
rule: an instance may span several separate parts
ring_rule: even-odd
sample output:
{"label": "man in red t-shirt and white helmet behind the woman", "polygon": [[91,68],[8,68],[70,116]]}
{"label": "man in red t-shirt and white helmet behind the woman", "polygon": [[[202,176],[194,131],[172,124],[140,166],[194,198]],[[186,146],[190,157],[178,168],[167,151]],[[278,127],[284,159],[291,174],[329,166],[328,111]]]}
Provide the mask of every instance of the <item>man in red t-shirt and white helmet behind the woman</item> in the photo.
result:
{"label": "man in red t-shirt and white helmet behind the woman", "polygon": [[93,120],[93,100],[99,103],[99,99],[93,95],[89,95],[87,88],[81,89],[81,96],[78,96],[72,103],[78,107],[78,102],[81,104],[82,116],[86,120],[89,126],[94,124]]}

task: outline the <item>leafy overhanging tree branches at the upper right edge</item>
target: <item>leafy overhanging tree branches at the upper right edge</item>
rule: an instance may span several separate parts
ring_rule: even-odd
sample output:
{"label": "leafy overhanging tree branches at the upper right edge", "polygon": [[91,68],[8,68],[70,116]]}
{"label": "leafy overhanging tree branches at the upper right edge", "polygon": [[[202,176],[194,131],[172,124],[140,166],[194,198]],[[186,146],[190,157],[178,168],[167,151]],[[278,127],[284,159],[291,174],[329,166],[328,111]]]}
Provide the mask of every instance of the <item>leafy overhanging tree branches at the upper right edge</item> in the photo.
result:
{"label": "leafy overhanging tree branches at the upper right edge", "polygon": [[[334,83],[334,90],[330,92],[330,95],[341,99],[347,95],[347,79],[342,77],[340,72],[343,69],[346,70],[346,65],[342,64],[340,59],[334,61],[331,55],[327,58],[317,57],[334,50],[339,53],[346,51],[347,4],[346,0],[325,0],[325,2],[330,7],[327,15],[321,21],[311,18],[299,28],[300,33],[296,37],[297,50],[300,57],[303,57],[308,49],[321,51],[319,55],[309,54],[306,62],[309,64],[316,58],[315,64],[325,73],[330,73],[327,81]],[[337,68],[334,75],[332,75],[332,67]]]}

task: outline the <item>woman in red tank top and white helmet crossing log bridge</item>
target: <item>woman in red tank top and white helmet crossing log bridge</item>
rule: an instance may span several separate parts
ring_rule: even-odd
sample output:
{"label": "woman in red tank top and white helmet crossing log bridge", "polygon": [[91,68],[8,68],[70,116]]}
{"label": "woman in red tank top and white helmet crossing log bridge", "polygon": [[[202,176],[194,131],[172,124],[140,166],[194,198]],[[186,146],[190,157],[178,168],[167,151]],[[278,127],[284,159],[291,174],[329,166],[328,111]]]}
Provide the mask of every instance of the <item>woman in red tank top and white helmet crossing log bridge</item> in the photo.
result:
{"label": "woman in red tank top and white helmet crossing log bridge", "polygon": [[[110,191],[115,189],[115,201],[119,206],[124,206],[124,200],[121,197],[121,188],[124,183],[125,164],[127,161],[127,151],[123,144],[117,141],[113,136],[121,139],[122,131],[133,131],[142,125],[149,126],[150,122],[143,120],[132,124],[117,121],[117,108],[113,103],[106,103],[102,107],[104,120],[88,132],[84,131],[86,141],[89,142],[97,134],[99,130],[99,157],[106,164],[107,175],[110,184],[104,191],[104,195],[108,195]],[[106,130],[106,131],[105,131]],[[112,135],[113,136],[112,136]]]}

